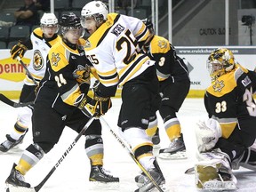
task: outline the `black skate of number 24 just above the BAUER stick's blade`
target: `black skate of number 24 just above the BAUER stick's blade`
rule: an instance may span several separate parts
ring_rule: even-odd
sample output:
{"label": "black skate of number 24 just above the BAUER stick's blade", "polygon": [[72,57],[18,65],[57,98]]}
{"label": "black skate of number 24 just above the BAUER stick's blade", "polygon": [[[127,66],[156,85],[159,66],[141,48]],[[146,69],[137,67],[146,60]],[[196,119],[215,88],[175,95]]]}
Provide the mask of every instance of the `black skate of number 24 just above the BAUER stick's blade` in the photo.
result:
{"label": "black skate of number 24 just above the BAUER stick's blade", "polygon": [[12,171],[7,180],[5,180],[6,185],[11,185],[12,187],[30,188],[30,184],[25,182],[24,176],[15,169],[16,166],[17,164],[13,164]]}

